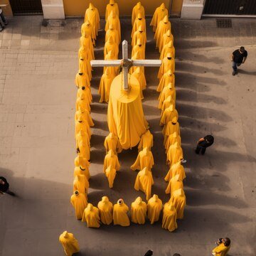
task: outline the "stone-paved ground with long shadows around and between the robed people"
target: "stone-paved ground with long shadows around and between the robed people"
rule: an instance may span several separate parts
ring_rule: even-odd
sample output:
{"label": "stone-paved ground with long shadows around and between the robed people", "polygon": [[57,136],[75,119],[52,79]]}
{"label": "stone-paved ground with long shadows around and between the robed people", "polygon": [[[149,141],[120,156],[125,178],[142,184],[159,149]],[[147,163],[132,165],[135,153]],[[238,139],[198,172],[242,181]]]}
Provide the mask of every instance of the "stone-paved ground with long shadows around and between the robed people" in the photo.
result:
{"label": "stone-paved ground with long shadows around and between the robed people", "polygon": [[[80,255],[210,255],[214,241],[231,238],[230,255],[255,255],[255,35],[253,19],[233,19],[233,28],[215,27],[215,19],[171,20],[176,46],[177,109],[186,164],[188,206],[178,230],[168,233],[160,223],[129,228],[88,229],[75,220],[69,198],[75,157],[73,114],[81,20],[50,21],[41,16],[10,20],[0,33],[0,168],[18,198],[1,196],[0,255],[63,255],[58,235],[69,230],[78,238]],[[125,28],[125,29],[124,29]],[[122,21],[129,40],[129,20]],[[158,58],[148,28],[147,58]],[[104,33],[95,48],[102,58]],[[229,56],[244,45],[247,63],[231,75]],[[156,68],[146,69],[143,102],[154,134],[156,165],[153,193],[166,202],[167,167],[156,109]],[[101,69],[92,80],[92,165],[90,201],[122,196],[128,205],[138,195],[136,173],[129,166],[137,151],[119,154],[122,169],[114,188],[102,174],[107,134],[107,105],[97,103]],[[213,133],[215,144],[206,156],[193,153],[196,139]],[[143,196],[144,198],[144,196]],[[241,250],[242,248],[242,250]]]}

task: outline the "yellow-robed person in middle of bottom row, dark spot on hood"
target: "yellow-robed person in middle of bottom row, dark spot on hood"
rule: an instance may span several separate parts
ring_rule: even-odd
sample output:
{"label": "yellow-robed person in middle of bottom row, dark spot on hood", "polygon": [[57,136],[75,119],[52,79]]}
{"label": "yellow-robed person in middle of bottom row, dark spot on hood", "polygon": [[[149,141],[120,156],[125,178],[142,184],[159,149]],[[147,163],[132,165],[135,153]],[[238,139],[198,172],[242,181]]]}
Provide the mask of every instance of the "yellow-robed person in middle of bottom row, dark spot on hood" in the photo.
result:
{"label": "yellow-robed person in middle of bottom row, dark spot on hood", "polygon": [[129,217],[127,215],[129,211],[128,206],[124,203],[122,199],[119,199],[114,205],[113,209],[113,220],[114,225],[121,225],[122,227],[127,227],[130,225]]}

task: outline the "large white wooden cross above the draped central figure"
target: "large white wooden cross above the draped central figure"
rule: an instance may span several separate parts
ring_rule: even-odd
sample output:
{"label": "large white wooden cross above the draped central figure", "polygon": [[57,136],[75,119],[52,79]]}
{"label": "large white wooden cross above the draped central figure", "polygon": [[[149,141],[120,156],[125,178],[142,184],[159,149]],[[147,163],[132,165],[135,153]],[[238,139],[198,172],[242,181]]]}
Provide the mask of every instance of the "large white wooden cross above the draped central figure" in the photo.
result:
{"label": "large white wooden cross above the draped central figure", "polygon": [[[126,40],[122,41],[122,60],[91,60],[92,67],[118,67],[122,65],[122,61],[132,61],[132,65],[138,67],[159,67],[161,60],[131,60],[128,58],[128,43]],[[122,65],[122,74],[124,81],[124,90],[128,90],[128,67]]]}

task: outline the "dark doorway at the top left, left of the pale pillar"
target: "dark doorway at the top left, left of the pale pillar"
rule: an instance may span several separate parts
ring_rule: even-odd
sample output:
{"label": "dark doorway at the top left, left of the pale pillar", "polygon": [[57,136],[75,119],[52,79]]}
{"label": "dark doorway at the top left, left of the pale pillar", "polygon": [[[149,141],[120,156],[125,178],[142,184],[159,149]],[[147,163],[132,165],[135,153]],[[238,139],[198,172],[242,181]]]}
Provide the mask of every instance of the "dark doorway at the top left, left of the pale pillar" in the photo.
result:
{"label": "dark doorway at the top left, left of the pale pillar", "polygon": [[10,0],[14,15],[43,14],[41,0]]}

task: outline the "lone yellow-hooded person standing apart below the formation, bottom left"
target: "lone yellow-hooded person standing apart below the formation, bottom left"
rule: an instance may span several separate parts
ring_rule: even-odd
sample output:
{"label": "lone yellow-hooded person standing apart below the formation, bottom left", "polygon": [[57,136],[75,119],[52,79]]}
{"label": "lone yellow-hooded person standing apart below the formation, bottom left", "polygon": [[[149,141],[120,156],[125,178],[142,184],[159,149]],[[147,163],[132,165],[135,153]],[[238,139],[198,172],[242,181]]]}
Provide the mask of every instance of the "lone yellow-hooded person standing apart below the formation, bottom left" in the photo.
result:
{"label": "lone yellow-hooded person standing apart below the formation, bottom left", "polygon": [[78,240],[75,239],[72,233],[64,231],[60,235],[59,241],[63,246],[66,256],[72,256],[74,253],[79,252]]}

